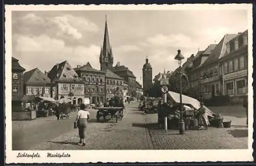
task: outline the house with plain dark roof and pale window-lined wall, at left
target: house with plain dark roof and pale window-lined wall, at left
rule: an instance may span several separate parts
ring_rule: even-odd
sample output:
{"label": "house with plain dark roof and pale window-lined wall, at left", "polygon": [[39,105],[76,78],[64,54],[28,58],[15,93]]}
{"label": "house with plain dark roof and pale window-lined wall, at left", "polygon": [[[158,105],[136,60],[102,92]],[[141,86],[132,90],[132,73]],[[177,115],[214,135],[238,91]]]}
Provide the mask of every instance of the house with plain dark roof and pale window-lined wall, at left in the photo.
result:
{"label": "house with plain dark roof and pale window-lined wall, at left", "polygon": [[24,73],[24,94],[51,97],[51,80],[38,68]]}

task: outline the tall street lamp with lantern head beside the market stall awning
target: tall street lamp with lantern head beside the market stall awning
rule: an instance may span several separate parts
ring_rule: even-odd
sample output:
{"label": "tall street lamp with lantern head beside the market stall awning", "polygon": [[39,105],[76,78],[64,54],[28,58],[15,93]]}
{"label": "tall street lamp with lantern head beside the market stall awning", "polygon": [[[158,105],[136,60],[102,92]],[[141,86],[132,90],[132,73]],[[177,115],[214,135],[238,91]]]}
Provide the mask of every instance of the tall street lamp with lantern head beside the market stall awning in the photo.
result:
{"label": "tall street lamp with lantern head beside the market stall awning", "polygon": [[178,60],[179,68],[180,68],[180,134],[184,134],[185,132],[185,123],[183,120],[183,106],[182,106],[182,73],[181,73],[181,61],[184,59],[184,56],[181,54],[180,49],[178,49],[178,54],[175,57],[175,60]]}

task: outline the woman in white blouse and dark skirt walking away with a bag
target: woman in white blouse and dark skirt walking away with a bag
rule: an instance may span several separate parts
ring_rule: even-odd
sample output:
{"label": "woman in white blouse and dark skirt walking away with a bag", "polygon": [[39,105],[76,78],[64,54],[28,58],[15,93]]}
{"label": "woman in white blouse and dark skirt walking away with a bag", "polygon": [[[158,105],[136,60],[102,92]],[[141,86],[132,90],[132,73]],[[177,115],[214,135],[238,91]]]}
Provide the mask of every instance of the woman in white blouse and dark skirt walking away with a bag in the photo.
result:
{"label": "woman in white blouse and dark skirt walking away with a bag", "polygon": [[77,127],[78,127],[78,133],[80,137],[80,141],[78,145],[80,146],[86,145],[86,128],[87,128],[89,119],[90,119],[90,113],[88,110],[86,110],[86,105],[82,103],[75,120],[78,124]]}

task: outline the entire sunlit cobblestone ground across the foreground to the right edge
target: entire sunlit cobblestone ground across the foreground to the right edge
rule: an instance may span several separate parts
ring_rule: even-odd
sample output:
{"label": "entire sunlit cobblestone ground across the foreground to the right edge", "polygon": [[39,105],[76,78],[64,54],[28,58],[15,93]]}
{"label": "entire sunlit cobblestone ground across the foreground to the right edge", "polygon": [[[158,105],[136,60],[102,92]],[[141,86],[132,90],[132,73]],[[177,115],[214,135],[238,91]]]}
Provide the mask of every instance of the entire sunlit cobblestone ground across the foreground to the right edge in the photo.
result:
{"label": "entire sunlit cobblestone ground across the foreground to the right edge", "polygon": [[[77,129],[59,134],[54,139],[41,141],[33,150],[135,150],[135,149],[247,149],[248,130],[245,118],[233,118],[231,128],[208,130],[156,129],[157,114],[143,115],[137,109],[138,102],[127,104],[124,118],[97,123],[95,117],[88,125],[86,146],[78,146]],[[93,112],[93,111],[91,111]],[[96,110],[94,110],[94,113]],[[95,114],[96,115],[96,114]]]}

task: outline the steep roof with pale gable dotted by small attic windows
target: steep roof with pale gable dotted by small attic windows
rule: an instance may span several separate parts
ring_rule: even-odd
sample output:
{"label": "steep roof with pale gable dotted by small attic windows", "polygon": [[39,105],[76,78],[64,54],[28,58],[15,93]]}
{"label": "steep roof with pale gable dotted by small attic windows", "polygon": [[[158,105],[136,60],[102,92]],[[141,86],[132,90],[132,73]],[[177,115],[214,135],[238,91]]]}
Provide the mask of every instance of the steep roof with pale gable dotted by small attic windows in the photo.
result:
{"label": "steep roof with pale gable dotted by small attic windows", "polygon": [[48,73],[48,77],[54,82],[82,82],[68,61],[54,65]]}

